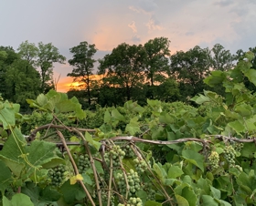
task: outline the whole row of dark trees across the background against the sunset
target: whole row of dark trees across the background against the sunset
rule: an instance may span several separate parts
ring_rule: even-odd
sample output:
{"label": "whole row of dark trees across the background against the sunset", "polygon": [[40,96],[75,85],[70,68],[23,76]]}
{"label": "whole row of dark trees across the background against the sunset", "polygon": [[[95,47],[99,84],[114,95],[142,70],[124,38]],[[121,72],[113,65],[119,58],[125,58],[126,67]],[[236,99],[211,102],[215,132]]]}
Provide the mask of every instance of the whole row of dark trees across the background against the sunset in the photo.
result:
{"label": "whole row of dark trees across the background against the sunset", "polygon": [[[204,89],[209,89],[203,79],[213,70],[228,71],[243,58],[239,49],[231,54],[224,46],[212,48],[194,46],[187,51],[176,51],[171,55],[170,40],[155,37],[144,45],[120,44],[101,59],[94,59],[97,48],[94,44],[80,42],[71,47],[72,58],[68,60],[72,71],[68,74],[79,88],[70,88],[69,98],[76,96],[84,108],[123,105],[133,99],[144,105],[147,98],[166,102],[185,101]],[[256,54],[256,47],[250,47]],[[0,93],[9,101],[19,103],[26,111],[27,98],[37,98],[40,93],[55,89],[53,64],[65,64],[66,57],[51,43],[37,45],[23,42],[14,50],[11,46],[0,46]],[[95,71],[95,63],[99,67]],[[256,58],[252,60],[256,68]],[[95,72],[101,77],[94,80]],[[248,79],[244,84],[255,90]],[[224,93],[221,86],[211,88]]]}

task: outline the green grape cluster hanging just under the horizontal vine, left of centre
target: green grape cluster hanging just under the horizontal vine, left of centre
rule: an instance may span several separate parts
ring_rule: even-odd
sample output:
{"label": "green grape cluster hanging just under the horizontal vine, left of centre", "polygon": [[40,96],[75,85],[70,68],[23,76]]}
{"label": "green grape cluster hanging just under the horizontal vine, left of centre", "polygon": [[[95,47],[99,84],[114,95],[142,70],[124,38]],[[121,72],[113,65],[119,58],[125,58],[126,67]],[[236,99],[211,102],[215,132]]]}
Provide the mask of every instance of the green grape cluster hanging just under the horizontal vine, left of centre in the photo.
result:
{"label": "green grape cluster hanging just under the horizontal vine, left of centre", "polygon": [[106,161],[106,164],[110,166],[110,160],[112,159],[112,166],[120,167],[120,161],[123,160],[124,155],[125,152],[118,145],[113,145],[110,150],[107,150],[104,153],[104,160]]}

